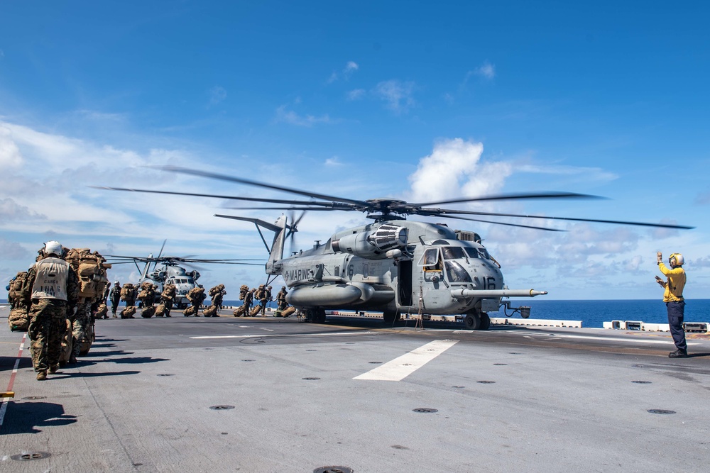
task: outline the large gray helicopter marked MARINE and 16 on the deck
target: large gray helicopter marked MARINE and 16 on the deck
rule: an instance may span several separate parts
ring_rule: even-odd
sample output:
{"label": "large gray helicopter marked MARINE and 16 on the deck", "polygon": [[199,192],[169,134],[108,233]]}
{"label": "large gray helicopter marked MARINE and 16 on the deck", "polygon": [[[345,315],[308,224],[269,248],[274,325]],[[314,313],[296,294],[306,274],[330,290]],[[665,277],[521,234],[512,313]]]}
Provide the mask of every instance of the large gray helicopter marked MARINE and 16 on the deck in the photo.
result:
{"label": "large gray helicopter marked MARINE and 16 on the deck", "polygon": [[[530,316],[530,307],[515,308],[510,306],[510,301],[502,301],[503,298],[534,297],[547,294],[547,291],[535,289],[509,289],[503,279],[501,265],[488,253],[479,234],[467,230],[452,229],[446,223],[408,221],[406,220],[407,216],[479,221],[547,231],[564,230],[549,226],[494,221],[489,218],[503,216],[613,223],[651,228],[693,228],[663,223],[531,216],[437,207],[443,204],[462,204],[474,201],[598,198],[597,196],[570,192],[500,194],[409,203],[400,199],[357,200],[329,196],[183,167],[164,166],[158,167],[158,169],[309,197],[310,200],[299,201],[119,187],[99,188],[281,204],[271,207],[239,207],[238,209],[241,210],[304,212],[297,219],[292,215],[291,223],[285,215],[280,216],[274,223],[268,223],[258,218],[222,214],[215,216],[249,221],[256,225],[269,252],[266,263],[267,283],[278,276],[283,277],[286,286],[290,289],[286,301],[299,308],[305,314],[306,321],[315,323],[324,322],[326,310],[329,309],[381,311],[386,323],[395,323],[403,313],[455,315],[463,316],[464,324],[469,330],[487,330],[491,323],[488,312],[498,311],[501,306],[519,311],[524,318]],[[373,222],[338,231],[332,234],[326,243],[316,241],[312,248],[284,257],[285,240],[289,237],[293,238],[297,231],[297,224],[306,211],[359,211],[366,213],[366,218],[373,220]],[[267,244],[261,228],[273,231],[271,247]]]}

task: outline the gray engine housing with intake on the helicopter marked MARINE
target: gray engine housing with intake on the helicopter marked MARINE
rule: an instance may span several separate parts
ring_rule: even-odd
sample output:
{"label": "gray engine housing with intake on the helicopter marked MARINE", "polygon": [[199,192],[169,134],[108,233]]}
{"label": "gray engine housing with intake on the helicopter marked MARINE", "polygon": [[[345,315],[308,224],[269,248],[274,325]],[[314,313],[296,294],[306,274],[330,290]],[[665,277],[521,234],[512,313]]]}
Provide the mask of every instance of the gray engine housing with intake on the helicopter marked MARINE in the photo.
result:
{"label": "gray engine housing with intake on the helicopter marked MARINE", "polygon": [[389,250],[407,246],[407,228],[384,223],[373,232],[354,233],[334,240],[332,246],[335,252],[383,260]]}

